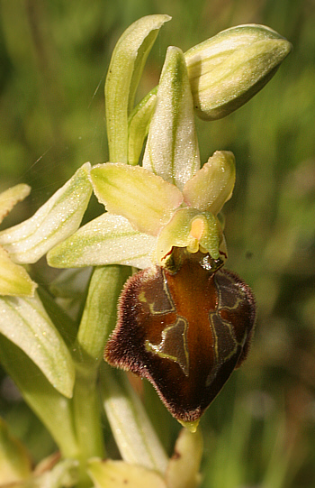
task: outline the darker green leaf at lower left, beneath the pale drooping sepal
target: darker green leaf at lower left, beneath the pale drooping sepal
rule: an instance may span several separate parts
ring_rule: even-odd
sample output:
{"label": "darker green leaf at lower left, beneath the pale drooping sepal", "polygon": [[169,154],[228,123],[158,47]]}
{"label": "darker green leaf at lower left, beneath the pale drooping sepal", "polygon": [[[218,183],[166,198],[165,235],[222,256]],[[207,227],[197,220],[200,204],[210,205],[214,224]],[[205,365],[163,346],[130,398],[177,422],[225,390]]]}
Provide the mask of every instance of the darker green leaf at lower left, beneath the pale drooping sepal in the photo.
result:
{"label": "darker green leaf at lower left, beneath the pale drooping sepal", "polygon": [[40,372],[22,349],[0,334],[0,358],[24,400],[30,405],[58,444],[61,454],[76,458],[78,447],[72,405]]}

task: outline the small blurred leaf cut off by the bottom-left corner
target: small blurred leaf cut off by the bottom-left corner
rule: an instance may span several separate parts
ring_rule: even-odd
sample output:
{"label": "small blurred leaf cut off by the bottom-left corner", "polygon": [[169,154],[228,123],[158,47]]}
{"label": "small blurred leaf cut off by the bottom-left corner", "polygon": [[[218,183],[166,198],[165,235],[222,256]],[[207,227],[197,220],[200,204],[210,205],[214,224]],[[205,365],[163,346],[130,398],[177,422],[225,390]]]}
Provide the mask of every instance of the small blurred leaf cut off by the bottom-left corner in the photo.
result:
{"label": "small blurred leaf cut off by the bottom-left corner", "polygon": [[31,474],[31,458],[23,444],[13,437],[0,419],[0,485],[14,483]]}

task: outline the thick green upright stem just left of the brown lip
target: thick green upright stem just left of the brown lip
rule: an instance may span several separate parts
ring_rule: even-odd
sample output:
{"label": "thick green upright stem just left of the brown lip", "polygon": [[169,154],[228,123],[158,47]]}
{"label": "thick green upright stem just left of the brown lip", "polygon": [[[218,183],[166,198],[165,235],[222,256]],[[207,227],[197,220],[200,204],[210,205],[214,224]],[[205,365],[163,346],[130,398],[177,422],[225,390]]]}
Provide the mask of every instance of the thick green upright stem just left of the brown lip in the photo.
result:
{"label": "thick green upright stem just left of the brown lip", "polygon": [[80,447],[80,488],[91,484],[86,475],[87,460],[105,456],[98,372],[105,342],[116,323],[117,300],[129,275],[129,267],[118,265],[94,269],[76,336],[73,416]]}

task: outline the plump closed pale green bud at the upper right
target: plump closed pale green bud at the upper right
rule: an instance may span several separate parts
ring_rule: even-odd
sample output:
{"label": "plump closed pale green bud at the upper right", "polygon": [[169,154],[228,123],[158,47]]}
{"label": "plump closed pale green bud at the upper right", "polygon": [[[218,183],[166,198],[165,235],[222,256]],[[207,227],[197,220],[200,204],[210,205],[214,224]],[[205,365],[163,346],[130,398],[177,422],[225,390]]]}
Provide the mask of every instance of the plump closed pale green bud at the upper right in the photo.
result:
{"label": "plump closed pale green bud at the upper right", "polygon": [[229,115],[266,85],[292,44],[264,25],[232,27],[184,54],[193,105],[204,120]]}

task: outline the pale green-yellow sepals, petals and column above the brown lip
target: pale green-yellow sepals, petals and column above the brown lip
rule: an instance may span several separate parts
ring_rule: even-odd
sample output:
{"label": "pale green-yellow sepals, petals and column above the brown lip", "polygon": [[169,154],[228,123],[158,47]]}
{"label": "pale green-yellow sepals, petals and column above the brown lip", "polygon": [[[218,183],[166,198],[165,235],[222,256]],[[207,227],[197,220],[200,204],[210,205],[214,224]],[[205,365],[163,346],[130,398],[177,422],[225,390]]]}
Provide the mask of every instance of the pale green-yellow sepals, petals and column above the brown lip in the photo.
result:
{"label": "pale green-yellow sepals, petals and column above the brown lip", "polygon": [[235,160],[231,152],[215,152],[200,169],[193,97],[178,48],[167,51],[143,166],[98,164],[90,178],[107,212],[53,248],[51,266],[119,263],[144,269],[162,265],[173,246],[193,253],[201,248],[214,261],[225,261],[218,214],[232,194]]}

